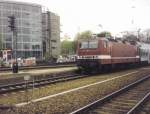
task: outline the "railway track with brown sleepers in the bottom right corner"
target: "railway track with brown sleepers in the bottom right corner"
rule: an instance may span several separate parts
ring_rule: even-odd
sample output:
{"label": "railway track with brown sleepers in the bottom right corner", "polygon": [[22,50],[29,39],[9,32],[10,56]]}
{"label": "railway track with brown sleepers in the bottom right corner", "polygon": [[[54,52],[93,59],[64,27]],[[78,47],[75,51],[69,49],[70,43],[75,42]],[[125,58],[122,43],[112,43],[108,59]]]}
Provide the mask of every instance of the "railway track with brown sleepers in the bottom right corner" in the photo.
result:
{"label": "railway track with brown sleepers in the bottom right corner", "polygon": [[137,114],[149,99],[150,75],[70,114]]}

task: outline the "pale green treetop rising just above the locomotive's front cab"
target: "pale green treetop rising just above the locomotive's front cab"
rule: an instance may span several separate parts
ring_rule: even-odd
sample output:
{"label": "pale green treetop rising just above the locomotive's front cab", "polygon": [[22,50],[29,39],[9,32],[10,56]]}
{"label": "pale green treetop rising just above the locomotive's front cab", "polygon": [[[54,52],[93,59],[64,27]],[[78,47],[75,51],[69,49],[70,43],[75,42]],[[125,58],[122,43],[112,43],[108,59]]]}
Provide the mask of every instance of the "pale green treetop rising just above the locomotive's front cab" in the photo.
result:
{"label": "pale green treetop rising just above the locomotive's front cab", "polygon": [[81,33],[77,33],[77,35],[75,36],[75,40],[79,40],[79,39],[90,39],[92,38],[92,32],[90,30],[81,32]]}

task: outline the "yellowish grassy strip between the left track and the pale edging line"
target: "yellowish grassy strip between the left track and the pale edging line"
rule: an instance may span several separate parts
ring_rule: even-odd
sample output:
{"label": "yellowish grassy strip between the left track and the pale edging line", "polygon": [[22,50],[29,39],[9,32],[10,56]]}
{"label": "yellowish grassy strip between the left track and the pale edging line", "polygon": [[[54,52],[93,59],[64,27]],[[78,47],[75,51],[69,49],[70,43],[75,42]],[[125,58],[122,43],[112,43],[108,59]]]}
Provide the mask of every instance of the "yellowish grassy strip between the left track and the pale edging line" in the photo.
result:
{"label": "yellowish grassy strip between the left track and the pale edging line", "polygon": [[[37,99],[41,98],[44,96],[52,95],[52,94],[57,94],[63,91],[67,91],[70,89],[78,88],[81,86],[85,86],[91,83],[96,83],[99,81],[103,81],[109,78],[113,78],[119,75],[123,75],[129,72],[133,72],[135,70],[128,70],[124,72],[117,72],[117,73],[111,73],[111,74],[104,74],[104,75],[97,75],[97,76],[92,76],[92,77],[85,77],[82,79],[76,79],[72,81],[67,81],[67,82],[61,82],[61,83],[56,83],[56,84],[51,84],[48,86],[44,86],[41,88],[36,88],[29,90],[27,92],[14,92],[10,94],[4,94],[0,96],[0,104],[16,104],[20,102],[25,102],[27,101],[27,98],[29,100],[31,99]],[[28,94],[28,96],[26,95]]]}

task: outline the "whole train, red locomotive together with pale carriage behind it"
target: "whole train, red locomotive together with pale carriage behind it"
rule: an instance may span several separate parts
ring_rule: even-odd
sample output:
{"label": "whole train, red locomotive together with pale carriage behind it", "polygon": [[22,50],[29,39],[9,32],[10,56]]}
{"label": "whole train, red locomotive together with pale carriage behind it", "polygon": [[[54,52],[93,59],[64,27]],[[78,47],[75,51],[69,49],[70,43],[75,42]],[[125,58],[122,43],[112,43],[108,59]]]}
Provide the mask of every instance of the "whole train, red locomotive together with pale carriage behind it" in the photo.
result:
{"label": "whole train, red locomotive together with pale carriage behind it", "polygon": [[148,65],[150,44],[106,37],[82,39],[77,43],[77,66],[87,71]]}

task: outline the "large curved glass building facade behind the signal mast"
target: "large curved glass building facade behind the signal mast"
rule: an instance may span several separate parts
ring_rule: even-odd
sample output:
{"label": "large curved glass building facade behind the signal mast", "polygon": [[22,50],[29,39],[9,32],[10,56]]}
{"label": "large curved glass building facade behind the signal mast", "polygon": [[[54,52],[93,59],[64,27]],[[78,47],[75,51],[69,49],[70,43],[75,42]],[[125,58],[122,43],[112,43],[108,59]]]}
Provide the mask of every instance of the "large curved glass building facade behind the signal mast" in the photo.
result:
{"label": "large curved glass building facade behind the signal mast", "polygon": [[[9,16],[16,18],[17,49],[8,27]],[[0,38],[3,49],[17,50],[18,58],[42,59],[42,8],[37,4],[0,1]]]}

